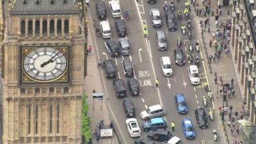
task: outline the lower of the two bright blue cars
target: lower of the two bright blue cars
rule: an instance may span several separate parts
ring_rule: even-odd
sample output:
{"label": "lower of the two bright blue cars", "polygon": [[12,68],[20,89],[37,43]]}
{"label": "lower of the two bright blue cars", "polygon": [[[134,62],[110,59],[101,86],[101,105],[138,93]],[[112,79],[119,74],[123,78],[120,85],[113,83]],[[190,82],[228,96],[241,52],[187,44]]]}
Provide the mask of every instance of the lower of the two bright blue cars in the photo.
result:
{"label": "lower of the two bright blue cars", "polygon": [[192,121],[188,118],[185,118],[181,122],[182,131],[184,132],[185,138],[193,139],[195,138],[195,131],[192,124]]}

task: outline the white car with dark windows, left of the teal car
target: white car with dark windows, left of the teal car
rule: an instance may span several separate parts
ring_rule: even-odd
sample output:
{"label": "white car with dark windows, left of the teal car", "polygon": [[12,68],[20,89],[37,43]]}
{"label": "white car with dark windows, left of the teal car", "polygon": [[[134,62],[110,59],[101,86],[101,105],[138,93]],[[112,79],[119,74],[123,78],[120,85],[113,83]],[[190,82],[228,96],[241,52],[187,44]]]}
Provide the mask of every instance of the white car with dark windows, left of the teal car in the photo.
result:
{"label": "white car with dark windows, left of the teal car", "polygon": [[128,118],[127,120],[125,120],[125,122],[128,132],[130,133],[130,136],[132,138],[141,136],[140,126],[136,118]]}

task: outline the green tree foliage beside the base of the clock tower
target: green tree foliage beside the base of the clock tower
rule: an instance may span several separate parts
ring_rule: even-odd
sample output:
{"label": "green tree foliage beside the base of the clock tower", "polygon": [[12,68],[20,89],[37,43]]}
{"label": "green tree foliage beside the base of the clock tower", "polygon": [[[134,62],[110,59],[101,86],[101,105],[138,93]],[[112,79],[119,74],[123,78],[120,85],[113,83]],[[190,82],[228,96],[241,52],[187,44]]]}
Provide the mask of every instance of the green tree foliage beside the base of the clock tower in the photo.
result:
{"label": "green tree foliage beside the base of the clock tower", "polygon": [[82,99],[82,143],[87,144],[92,139],[92,131],[90,130],[90,118],[87,116],[89,106],[87,104],[87,95],[84,93]]}

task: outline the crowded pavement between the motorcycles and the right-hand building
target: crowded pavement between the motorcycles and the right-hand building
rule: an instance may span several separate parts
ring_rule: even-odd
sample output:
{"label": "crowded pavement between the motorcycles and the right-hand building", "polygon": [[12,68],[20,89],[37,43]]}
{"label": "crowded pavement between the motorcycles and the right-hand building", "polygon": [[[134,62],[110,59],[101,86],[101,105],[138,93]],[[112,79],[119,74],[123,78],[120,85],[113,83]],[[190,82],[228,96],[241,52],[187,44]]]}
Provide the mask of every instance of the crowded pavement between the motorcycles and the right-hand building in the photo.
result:
{"label": "crowded pavement between the motorcycles and the right-hand building", "polygon": [[[199,4],[199,8],[203,8],[201,1],[197,1],[197,3]],[[198,37],[200,37],[200,47],[201,47],[200,50],[202,51],[202,54],[204,57],[205,68],[206,68],[207,74],[208,74],[209,85],[211,87],[211,91],[212,91],[213,97],[214,97],[215,117],[217,118],[217,116],[218,116],[218,120],[220,120],[220,127],[222,127],[221,133],[222,133],[222,136],[225,136],[225,138],[223,137],[225,139],[225,143],[232,143],[233,140],[237,140],[237,142],[243,141],[243,138],[241,137],[240,134],[233,134],[233,136],[232,136],[232,134],[230,132],[230,128],[227,126],[228,114],[224,116],[225,127],[223,127],[223,124],[221,123],[221,116],[218,114],[219,113],[218,106],[223,105],[223,99],[220,98],[220,90],[222,90],[222,88],[223,88],[221,86],[221,81],[220,81],[220,77],[221,77],[223,84],[228,83],[228,81],[230,82],[230,80],[232,78],[234,78],[235,96],[234,97],[231,96],[230,99],[228,99],[228,97],[227,97],[227,101],[228,101],[227,113],[230,113],[229,107],[232,106],[233,107],[232,116],[234,116],[234,113],[236,111],[239,113],[239,116],[241,115],[240,111],[241,111],[241,107],[243,106],[243,98],[242,98],[241,89],[239,87],[239,83],[237,80],[236,69],[234,67],[234,61],[232,60],[232,54],[230,54],[230,52],[229,52],[229,54],[227,54],[227,56],[225,56],[225,52],[221,51],[220,60],[217,60],[217,58],[216,58],[215,62],[213,62],[213,60],[212,60],[211,68],[209,67],[209,61],[207,60],[207,56],[209,56],[209,54],[212,54],[212,56],[214,56],[214,52],[215,52],[214,44],[212,44],[212,47],[210,47],[209,40],[212,40],[212,32],[216,31],[215,15],[216,15],[216,8],[218,8],[217,3],[218,3],[218,1],[211,1],[211,13],[209,15],[210,26],[206,26],[204,36],[202,36],[202,34],[201,34],[201,28],[200,28],[199,24],[200,24],[200,20],[203,20],[203,22],[204,22],[204,20],[207,19],[208,17],[202,17],[202,16],[197,17],[193,5],[191,5],[191,8],[192,8],[193,16],[194,16],[195,23],[196,23],[197,35],[198,35]],[[220,15],[219,20],[218,20],[219,25],[221,25],[221,22],[225,23],[225,22],[227,22],[228,19],[231,19],[230,15],[227,15],[228,10],[231,10],[230,6],[225,6],[225,7],[221,8],[222,15]],[[214,16],[212,16],[212,11],[214,11]],[[220,10],[219,10],[219,12],[220,12]],[[209,27],[210,27],[210,32],[208,32]],[[222,33],[223,28],[220,28],[220,31]],[[204,40],[202,37],[204,37]],[[218,45],[220,45],[221,40],[217,42]],[[226,36],[226,40],[227,40],[227,36]],[[206,47],[207,54],[204,49],[204,41],[205,41],[205,47]],[[228,47],[228,49],[229,49],[229,47]],[[229,49],[229,51],[230,51],[230,49]],[[211,73],[211,71],[212,71],[212,73]],[[217,84],[215,84],[215,81],[214,81],[215,73],[216,73],[216,76],[218,79]],[[218,95],[218,97],[217,97],[217,95]],[[226,102],[225,102],[225,106],[226,106]],[[234,127],[234,131],[236,131],[237,127],[239,126],[237,119],[235,120],[235,124],[236,125]],[[224,129],[226,131],[224,131]],[[218,132],[218,133],[220,133],[220,132]],[[234,132],[234,133],[236,133],[236,132]]]}

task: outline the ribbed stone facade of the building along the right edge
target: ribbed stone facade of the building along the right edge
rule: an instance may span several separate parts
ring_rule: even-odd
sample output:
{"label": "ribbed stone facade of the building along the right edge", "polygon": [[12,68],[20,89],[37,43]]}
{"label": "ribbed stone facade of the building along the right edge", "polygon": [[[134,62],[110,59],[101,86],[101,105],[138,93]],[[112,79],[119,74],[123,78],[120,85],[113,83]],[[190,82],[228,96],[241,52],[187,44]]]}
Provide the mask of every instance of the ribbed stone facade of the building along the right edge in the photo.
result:
{"label": "ribbed stone facade of the building along the right edge", "polygon": [[[236,62],[239,83],[243,88],[243,99],[246,103],[246,110],[250,122],[256,123],[256,35],[253,22],[256,19],[255,3],[253,0],[234,0],[232,1],[232,29],[231,43],[233,57]],[[254,40],[253,40],[254,39]]]}

